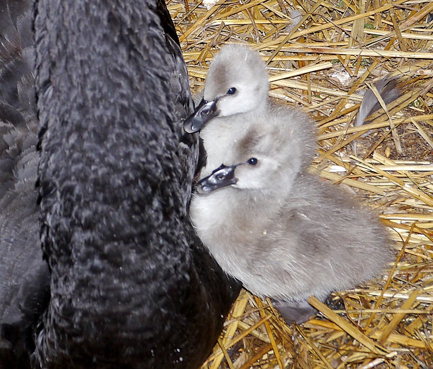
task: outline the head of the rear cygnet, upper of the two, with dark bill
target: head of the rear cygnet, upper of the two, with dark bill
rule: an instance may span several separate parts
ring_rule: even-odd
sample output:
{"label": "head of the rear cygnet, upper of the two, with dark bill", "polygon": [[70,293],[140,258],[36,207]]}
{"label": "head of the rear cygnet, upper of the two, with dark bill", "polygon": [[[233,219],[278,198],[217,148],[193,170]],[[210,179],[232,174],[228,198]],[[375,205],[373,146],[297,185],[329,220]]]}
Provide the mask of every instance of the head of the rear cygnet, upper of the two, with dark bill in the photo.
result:
{"label": "head of the rear cygnet, upper of the two, with dark bill", "polygon": [[183,127],[193,133],[215,117],[260,111],[267,104],[268,91],[266,64],[259,53],[244,45],[225,45],[213,58],[203,100]]}

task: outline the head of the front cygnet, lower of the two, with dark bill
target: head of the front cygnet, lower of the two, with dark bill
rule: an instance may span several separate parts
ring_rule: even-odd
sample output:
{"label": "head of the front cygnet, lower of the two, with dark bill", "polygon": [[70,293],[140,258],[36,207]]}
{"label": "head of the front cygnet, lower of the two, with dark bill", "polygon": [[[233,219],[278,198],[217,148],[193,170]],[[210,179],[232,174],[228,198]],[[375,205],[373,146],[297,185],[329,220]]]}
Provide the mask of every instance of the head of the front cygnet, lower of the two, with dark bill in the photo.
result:
{"label": "head of the front cygnet, lower of the two, with dark bill", "polygon": [[[225,186],[254,191],[254,196],[285,197],[302,166],[299,141],[284,125],[270,122],[266,129],[253,125],[228,153],[223,163],[197,183],[197,192],[207,194]],[[274,123],[274,124],[272,124]]]}

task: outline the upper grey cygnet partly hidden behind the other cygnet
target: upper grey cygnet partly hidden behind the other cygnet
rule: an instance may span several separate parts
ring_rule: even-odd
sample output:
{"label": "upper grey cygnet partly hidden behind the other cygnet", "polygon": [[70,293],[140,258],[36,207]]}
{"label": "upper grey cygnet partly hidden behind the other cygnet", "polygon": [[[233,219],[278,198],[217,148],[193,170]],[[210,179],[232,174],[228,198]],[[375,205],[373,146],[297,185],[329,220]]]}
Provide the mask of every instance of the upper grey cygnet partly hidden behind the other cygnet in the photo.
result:
{"label": "upper grey cygnet partly hidden behind the other cygnet", "polygon": [[[250,130],[251,124],[269,121],[292,130],[292,140],[301,143],[300,166],[311,163],[316,150],[316,126],[304,112],[268,97],[266,64],[250,47],[228,44],[215,55],[206,77],[203,99],[184,122],[188,133],[200,130],[207,162],[201,176],[208,176],[228,157],[236,137]],[[233,158],[234,159],[234,158]]]}

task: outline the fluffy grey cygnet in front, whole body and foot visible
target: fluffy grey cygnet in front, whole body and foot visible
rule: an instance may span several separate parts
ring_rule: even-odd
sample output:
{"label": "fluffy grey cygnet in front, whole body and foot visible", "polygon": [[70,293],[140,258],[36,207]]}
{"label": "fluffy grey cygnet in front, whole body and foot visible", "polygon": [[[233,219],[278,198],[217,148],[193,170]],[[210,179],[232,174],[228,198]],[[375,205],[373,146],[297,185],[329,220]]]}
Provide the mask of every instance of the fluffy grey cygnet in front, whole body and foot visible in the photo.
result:
{"label": "fluffy grey cygnet in front, whole body and foot visible", "polygon": [[315,312],[310,295],[324,301],[377,276],[392,252],[376,214],[294,170],[298,150],[284,125],[251,125],[222,159],[228,165],[197,184],[190,216],[225,272],[302,323]]}

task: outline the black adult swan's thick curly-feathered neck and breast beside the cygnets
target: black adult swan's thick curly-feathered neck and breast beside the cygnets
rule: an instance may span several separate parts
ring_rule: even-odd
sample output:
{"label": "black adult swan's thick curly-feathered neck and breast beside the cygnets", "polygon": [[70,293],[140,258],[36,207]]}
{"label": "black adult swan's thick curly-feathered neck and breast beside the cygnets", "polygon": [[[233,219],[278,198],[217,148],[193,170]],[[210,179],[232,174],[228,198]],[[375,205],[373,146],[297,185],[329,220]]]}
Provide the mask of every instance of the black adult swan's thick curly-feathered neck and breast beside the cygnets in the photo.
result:
{"label": "black adult swan's thick curly-feathered neck and breast beside the cygnets", "polygon": [[30,364],[197,367],[239,285],[189,223],[198,144],[182,132],[192,103],[165,4],[39,0],[34,27],[50,298],[26,323]]}

